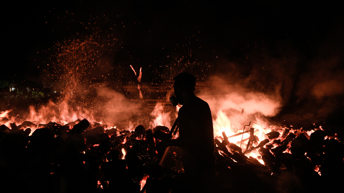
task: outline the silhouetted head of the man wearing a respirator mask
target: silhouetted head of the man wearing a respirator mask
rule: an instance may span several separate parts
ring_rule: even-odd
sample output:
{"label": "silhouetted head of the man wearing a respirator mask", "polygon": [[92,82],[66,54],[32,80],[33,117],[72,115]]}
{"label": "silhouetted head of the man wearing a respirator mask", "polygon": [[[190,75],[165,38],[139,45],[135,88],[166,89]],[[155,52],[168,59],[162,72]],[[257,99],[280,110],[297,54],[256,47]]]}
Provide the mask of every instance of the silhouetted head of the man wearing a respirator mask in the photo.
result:
{"label": "silhouetted head of the man wearing a respirator mask", "polygon": [[184,99],[182,93],[193,93],[195,91],[196,78],[194,75],[183,72],[174,77],[174,93],[179,102],[183,105]]}

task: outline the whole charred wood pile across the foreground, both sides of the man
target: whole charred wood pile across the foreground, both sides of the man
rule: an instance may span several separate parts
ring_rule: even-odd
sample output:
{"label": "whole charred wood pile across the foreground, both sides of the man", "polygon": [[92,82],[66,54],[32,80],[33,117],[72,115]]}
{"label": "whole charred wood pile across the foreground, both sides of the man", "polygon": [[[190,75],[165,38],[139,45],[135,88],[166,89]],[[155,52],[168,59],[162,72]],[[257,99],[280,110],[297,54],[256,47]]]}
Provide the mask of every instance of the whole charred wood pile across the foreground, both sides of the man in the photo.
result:
{"label": "whole charred wood pile across the foreground, both sides of the man", "polygon": [[[140,192],[149,175],[153,179],[147,193],[170,192],[183,178],[178,148],[172,149],[168,167],[155,165],[158,153],[163,152],[156,144],[168,136],[167,127],[146,130],[139,125],[130,132],[104,129],[107,126],[84,119],[67,125],[42,124],[29,136],[27,127],[34,126],[28,121],[13,123],[11,128],[0,126],[1,182],[9,192]],[[325,136],[321,129],[310,136],[302,129],[272,131],[259,144],[251,135],[243,151],[223,132],[222,139],[215,138],[218,184],[214,190],[319,192],[333,188],[342,181],[337,174],[343,172],[344,146],[336,136]],[[251,151],[258,151],[264,164],[247,157]]]}

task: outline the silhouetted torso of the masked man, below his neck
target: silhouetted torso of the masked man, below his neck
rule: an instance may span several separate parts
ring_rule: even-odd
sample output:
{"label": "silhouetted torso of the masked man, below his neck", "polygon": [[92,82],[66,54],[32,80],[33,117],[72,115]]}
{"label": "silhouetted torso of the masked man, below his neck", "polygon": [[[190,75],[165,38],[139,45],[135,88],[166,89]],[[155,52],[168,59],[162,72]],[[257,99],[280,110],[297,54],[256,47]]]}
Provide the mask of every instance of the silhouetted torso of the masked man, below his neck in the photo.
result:
{"label": "silhouetted torso of the masked man, below his neck", "polygon": [[214,133],[208,103],[194,96],[178,112],[184,170],[215,167]]}

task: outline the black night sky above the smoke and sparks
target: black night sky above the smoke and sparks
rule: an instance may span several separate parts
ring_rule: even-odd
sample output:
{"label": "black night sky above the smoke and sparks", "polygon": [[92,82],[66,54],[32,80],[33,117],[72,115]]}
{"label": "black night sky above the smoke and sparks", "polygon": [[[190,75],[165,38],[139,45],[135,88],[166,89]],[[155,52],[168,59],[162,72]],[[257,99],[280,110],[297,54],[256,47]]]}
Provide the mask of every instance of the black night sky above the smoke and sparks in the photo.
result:
{"label": "black night sky above the smoke and sparks", "polygon": [[[114,63],[117,57],[143,67],[154,61],[168,63],[171,60],[167,56],[178,48],[176,44],[184,44],[185,36],[194,35],[197,46],[202,46],[197,56],[207,61],[221,55],[241,62],[252,54],[247,45],[258,46],[258,53],[268,50],[278,57],[275,50],[288,44],[295,52],[312,58],[315,49],[343,24],[340,6],[327,2],[27,1],[7,2],[3,9],[5,80],[14,74],[38,76],[37,66],[47,56],[37,52],[76,33],[90,33],[80,22],[88,23],[95,16],[100,18],[96,27],[103,31],[113,27],[111,33],[123,42],[118,53],[129,52],[132,57],[118,58],[122,54],[115,53]],[[107,23],[102,21],[106,20],[104,15]]]}

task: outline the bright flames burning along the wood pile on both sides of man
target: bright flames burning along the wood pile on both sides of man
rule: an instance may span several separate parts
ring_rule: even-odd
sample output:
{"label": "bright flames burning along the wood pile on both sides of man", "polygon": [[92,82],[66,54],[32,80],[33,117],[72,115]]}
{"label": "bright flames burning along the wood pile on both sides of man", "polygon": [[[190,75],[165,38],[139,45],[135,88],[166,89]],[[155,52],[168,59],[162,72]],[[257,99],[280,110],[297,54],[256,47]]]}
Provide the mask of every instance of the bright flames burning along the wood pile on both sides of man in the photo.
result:
{"label": "bright flames burning along the wood pile on both sides of man", "polygon": [[[260,101],[256,101],[257,104],[261,103]],[[240,104],[237,104],[240,105]],[[157,126],[165,126],[168,128],[171,128],[171,121],[174,121],[171,119],[171,117],[174,117],[174,115],[177,115],[176,113],[165,112],[164,110],[165,105],[163,103],[158,102],[153,111],[151,112],[151,121],[149,121],[148,125],[146,125],[147,128],[155,128]],[[176,109],[174,109],[174,112],[178,112],[180,106],[177,106]],[[73,126],[78,123],[83,118],[86,118],[90,123],[99,123],[100,125],[103,125],[104,129],[112,129],[116,128],[116,125],[113,123],[106,122],[106,120],[97,119],[94,117],[94,114],[96,112],[93,112],[91,110],[87,110],[83,107],[77,107],[77,108],[71,108],[71,106],[68,106],[68,104],[65,101],[62,101],[60,103],[53,103],[49,102],[46,105],[42,105],[39,108],[35,108],[34,106],[29,107],[29,112],[22,115],[22,116],[14,116],[11,114],[11,110],[3,111],[0,113],[0,124],[5,125],[8,128],[14,128],[17,127],[19,129],[23,129],[24,131],[28,128],[30,128],[30,134],[37,129],[37,128],[44,128],[49,124],[49,122],[57,123],[60,125],[66,125],[69,127],[69,129],[72,129]],[[214,111],[213,111],[214,113]],[[276,131],[279,132],[279,135],[276,137],[270,138],[273,140],[283,140],[283,137],[286,137],[286,134],[283,134],[284,131],[292,132],[292,129],[287,128],[286,126],[279,126],[279,125],[271,125],[268,122],[268,119],[261,114],[243,114],[241,112],[237,112],[229,117],[226,115],[224,110],[218,110],[216,113],[214,113],[214,117],[216,117],[213,120],[213,127],[214,127],[214,136],[216,139],[218,139],[220,142],[224,140],[223,133],[228,136],[232,136],[241,132],[244,132],[244,125],[248,124],[251,120],[247,119],[248,117],[252,119],[252,123],[249,126],[246,126],[246,130],[249,130],[250,128],[254,129],[254,137],[255,140],[251,142],[251,146],[257,146],[262,140],[267,139],[267,134]],[[236,118],[236,124],[238,123],[238,120],[244,121],[241,122],[241,125],[235,125],[232,124],[231,118]],[[247,119],[247,120],[246,120]],[[238,127],[241,126],[241,127]],[[133,122],[129,122],[126,128],[123,128],[123,130],[134,130],[135,125]],[[321,129],[321,126],[320,128]],[[314,130],[307,132],[307,135],[310,136],[310,134],[314,132]],[[287,133],[287,134],[288,134]],[[230,143],[233,143],[239,147],[241,147],[241,150],[244,152],[246,151],[246,146],[248,144],[248,139],[250,137],[250,133],[244,133],[242,135],[237,135],[235,137],[228,138]],[[122,144],[126,143],[126,138],[122,141]],[[271,140],[272,144],[272,140]],[[276,144],[272,144],[273,147],[276,146]],[[229,151],[230,147],[226,146]],[[290,152],[286,150],[287,152]],[[122,152],[122,159],[125,159],[126,151],[124,148],[121,149]],[[259,162],[264,164],[264,161],[261,159],[261,156],[259,155],[258,149],[250,151],[246,155],[247,157],[253,157],[257,158]]]}

